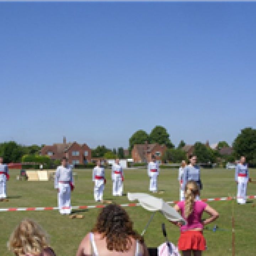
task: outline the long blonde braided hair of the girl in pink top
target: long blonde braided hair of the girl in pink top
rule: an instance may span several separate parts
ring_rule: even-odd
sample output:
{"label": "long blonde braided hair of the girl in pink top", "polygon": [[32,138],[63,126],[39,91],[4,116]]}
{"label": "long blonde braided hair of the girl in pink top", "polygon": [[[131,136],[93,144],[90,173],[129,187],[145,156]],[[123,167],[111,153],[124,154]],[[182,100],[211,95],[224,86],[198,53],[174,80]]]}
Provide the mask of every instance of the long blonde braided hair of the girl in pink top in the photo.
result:
{"label": "long blonde braided hair of the girl in pink top", "polygon": [[199,188],[196,182],[188,181],[185,187],[185,218],[193,212],[194,200],[199,194]]}

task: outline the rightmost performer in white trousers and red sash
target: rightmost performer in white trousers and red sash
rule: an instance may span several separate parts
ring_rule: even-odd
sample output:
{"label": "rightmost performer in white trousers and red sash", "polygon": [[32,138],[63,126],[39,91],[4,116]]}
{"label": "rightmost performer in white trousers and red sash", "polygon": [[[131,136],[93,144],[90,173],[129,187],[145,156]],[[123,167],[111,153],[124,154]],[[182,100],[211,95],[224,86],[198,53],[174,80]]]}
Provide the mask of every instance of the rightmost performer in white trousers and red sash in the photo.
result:
{"label": "rightmost performer in white trousers and red sash", "polygon": [[236,165],[235,169],[235,181],[238,185],[236,201],[239,204],[246,203],[246,190],[249,180],[249,170],[245,160],[245,156],[241,156],[240,162]]}

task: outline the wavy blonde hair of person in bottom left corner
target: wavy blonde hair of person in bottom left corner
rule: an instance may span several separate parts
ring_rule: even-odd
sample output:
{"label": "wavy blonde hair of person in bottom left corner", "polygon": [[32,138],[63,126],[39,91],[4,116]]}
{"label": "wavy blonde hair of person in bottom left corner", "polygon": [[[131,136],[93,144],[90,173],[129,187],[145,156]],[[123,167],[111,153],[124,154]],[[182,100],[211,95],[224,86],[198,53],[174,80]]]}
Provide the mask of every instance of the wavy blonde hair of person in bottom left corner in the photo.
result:
{"label": "wavy blonde hair of person in bottom left corner", "polygon": [[8,247],[18,256],[39,255],[48,247],[48,235],[36,222],[24,219],[12,232]]}

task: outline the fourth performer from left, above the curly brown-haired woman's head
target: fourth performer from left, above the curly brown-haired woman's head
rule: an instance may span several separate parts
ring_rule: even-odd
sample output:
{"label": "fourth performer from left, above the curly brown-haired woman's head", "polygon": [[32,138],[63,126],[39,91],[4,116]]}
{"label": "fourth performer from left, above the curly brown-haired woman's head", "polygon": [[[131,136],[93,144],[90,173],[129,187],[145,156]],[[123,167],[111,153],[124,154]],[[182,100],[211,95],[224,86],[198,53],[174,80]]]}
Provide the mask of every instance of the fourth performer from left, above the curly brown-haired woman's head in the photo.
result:
{"label": "fourth performer from left, above the curly brown-haired woman's head", "polygon": [[123,180],[123,169],[119,164],[119,159],[116,159],[115,163],[112,165],[113,196],[123,195]]}

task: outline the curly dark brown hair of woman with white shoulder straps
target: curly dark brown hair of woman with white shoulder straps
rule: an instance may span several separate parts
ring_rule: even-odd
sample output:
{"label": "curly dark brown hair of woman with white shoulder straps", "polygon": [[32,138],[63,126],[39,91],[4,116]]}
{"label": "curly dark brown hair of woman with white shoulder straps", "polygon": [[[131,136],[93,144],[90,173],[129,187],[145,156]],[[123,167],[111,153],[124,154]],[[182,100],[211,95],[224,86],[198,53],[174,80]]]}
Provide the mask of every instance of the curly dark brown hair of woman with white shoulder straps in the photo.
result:
{"label": "curly dark brown hair of woman with white shoulder straps", "polygon": [[92,232],[100,233],[102,238],[106,238],[107,249],[110,251],[128,251],[132,245],[131,237],[143,241],[133,230],[133,223],[127,212],[117,204],[102,208]]}

